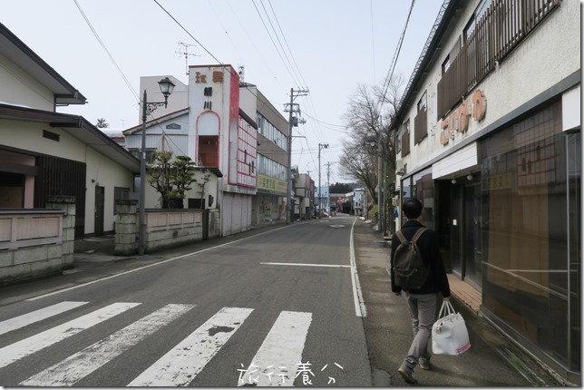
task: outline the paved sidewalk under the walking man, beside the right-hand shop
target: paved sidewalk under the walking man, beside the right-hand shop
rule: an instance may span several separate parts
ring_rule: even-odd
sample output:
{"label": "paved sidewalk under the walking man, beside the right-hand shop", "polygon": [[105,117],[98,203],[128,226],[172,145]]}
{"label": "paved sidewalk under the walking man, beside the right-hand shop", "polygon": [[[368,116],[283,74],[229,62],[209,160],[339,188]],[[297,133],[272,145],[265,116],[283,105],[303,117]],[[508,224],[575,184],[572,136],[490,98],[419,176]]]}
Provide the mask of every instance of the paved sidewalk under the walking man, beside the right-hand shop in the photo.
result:
{"label": "paved sidewalk under the walking man, beside the right-hand shop", "polygon": [[[375,386],[407,386],[397,368],[413,340],[403,297],[391,291],[389,243],[371,223],[355,222],[355,260],[367,310],[365,335]],[[558,386],[533,361],[478,316],[480,296],[451,280],[454,308],[462,313],[471,348],[460,356],[433,356],[432,369],[416,369],[417,385],[454,387]],[[511,363],[511,361],[513,363]]]}

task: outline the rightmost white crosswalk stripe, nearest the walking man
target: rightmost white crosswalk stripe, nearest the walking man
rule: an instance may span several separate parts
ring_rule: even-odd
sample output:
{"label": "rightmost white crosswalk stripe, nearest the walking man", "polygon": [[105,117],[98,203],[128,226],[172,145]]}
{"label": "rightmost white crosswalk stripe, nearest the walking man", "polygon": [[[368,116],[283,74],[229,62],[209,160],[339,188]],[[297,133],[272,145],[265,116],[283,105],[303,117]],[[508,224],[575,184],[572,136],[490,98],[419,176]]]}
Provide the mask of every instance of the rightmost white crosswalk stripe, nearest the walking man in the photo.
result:
{"label": "rightmost white crosswalk stripe, nearest the walking man", "polygon": [[[238,385],[291,386],[307,341],[312,314],[283,311]],[[243,370],[241,370],[243,371]]]}

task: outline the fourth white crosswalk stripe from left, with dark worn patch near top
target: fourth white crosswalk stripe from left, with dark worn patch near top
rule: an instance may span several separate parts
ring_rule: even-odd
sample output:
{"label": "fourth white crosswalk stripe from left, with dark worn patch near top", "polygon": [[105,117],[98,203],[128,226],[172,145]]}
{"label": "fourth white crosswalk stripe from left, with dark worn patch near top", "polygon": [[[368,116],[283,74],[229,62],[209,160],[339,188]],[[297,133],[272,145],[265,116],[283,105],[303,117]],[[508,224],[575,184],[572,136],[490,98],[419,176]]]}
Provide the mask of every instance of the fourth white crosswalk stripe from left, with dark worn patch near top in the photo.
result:
{"label": "fourth white crosswalk stripe from left, with dark worn patch near top", "polygon": [[223,307],[197,330],[136,377],[129,386],[186,386],[232,336],[252,308]]}

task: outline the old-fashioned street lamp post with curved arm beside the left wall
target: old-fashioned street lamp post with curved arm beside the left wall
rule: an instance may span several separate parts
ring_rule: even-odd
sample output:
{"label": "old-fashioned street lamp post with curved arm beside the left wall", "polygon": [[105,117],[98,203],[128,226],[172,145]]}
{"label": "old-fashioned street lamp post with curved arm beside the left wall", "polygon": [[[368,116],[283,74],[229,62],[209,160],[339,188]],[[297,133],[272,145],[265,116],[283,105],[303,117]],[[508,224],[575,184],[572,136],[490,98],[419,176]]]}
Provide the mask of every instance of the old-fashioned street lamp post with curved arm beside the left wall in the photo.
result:
{"label": "old-fashioned street lamp post with curved arm beside the left wall", "polygon": [[158,84],[161,93],[164,95],[164,102],[148,102],[146,90],[142,98],[142,145],[140,153],[140,226],[138,234],[138,254],[144,254],[146,246],[146,118],[157,108],[168,105],[168,98],[174,89],[174,83],[168,77],[163,78]]}

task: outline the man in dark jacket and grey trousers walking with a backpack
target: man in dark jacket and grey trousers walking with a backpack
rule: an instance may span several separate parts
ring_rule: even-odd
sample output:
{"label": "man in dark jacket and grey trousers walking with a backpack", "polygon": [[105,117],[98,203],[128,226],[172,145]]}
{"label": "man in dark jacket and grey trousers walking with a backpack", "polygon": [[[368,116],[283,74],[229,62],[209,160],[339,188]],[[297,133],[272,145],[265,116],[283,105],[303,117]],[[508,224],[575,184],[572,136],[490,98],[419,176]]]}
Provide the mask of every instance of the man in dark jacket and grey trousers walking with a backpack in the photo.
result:
{"label": "man in dark jacket and grey trousers walking with a backpack", "polygon": [[[418,229],[424,228],[422,220],[422,202],[415,198],[404,201],[402,205],[402,216],[407,219],[401,229],[405,239],[413,239]],[[394,234],[392,239],[391,250],[391,283],[392,292],[396,296],[402,296],[404,293],[405,301],[412,319],[414,328],[414,341],[405,356],[404,363],[398,368],[398,373],[404,377],[404,380],[413,384],[414,368],[420,366],[423,370],[429,370],[430,353],[428,351],[428,340],[432,336],[432,326],[436,321],[436,307],[439,293],[442,294],[443,300],[450,299],[450,285],[446,277],[446,270],[438,249],[438,240],[432,229],[427,229],[422,236],[417,239],[417,246],[420,249],[423,262],[429,267],[429,274],[423,283],[422,288],[409,289],[401,288],[396,284],[394,277],[394,254],[395,249],[401,241]]]}

